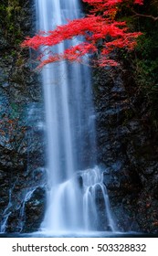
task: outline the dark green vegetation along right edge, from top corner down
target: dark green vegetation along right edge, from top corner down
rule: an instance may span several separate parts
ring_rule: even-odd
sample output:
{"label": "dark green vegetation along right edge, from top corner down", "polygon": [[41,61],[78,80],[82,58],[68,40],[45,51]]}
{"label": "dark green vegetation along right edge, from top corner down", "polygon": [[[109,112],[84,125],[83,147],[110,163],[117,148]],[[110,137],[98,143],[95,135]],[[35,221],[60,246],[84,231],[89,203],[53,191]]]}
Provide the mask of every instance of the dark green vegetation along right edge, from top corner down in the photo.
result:
{"label": "dark green vegetation along right edge, from top corner down", "polygon": [[[145,103],[146,121],[158,131],[158,1],[144,1],[142,16],[133,16],[130,23],[142,31],[137,47],[129,57],[137,90]],[[148,16],[146,16],[148,15]],[[127,57],[128,58],[128,57]]]}

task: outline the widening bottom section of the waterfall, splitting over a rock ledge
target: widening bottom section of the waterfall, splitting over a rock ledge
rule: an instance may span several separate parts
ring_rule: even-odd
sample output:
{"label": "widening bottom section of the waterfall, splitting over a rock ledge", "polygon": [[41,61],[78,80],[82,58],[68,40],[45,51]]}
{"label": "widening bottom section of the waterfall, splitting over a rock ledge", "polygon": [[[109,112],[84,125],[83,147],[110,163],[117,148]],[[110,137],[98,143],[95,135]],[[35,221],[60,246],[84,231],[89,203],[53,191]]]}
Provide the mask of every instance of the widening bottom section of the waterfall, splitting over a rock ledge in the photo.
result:
{"label": "widening bottom section of the waterfall, splitting over a rock ledge", "polygon": [[79,171],[48,191],[44,232],[114,231],[109,197],[98,166]]}

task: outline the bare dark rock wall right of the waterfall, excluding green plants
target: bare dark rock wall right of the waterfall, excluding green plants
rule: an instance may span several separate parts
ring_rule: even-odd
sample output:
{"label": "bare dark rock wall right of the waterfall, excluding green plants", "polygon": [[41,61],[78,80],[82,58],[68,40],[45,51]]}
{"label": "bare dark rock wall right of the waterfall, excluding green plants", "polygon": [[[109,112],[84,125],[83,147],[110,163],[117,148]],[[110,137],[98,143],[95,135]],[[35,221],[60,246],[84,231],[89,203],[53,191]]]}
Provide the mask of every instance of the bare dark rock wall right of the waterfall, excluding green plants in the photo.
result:
{"label": "bare dark rock wall right of the waterfall, excluding green plants", "polygon": [[93,72],[98,162],[122,231],[158,232],[158,147],[132,72]]}

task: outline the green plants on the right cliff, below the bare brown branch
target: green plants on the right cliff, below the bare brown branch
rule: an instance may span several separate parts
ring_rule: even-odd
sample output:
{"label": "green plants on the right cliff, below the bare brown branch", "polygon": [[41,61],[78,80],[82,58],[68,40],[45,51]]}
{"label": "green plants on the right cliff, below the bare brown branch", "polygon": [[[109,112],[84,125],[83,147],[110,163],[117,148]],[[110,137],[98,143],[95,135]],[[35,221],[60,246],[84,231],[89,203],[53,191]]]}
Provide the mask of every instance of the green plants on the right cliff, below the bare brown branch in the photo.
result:
{"label": "green plants on the right cliff, below the bare brown branch", "polygon": [[[134,78],[150,106],[151,120],[155,128],[158,123],[158,26],[149,21],[143,25],[144,34],[138,40],[134,64]],[[156,128],[157,129],[157,128]]]}

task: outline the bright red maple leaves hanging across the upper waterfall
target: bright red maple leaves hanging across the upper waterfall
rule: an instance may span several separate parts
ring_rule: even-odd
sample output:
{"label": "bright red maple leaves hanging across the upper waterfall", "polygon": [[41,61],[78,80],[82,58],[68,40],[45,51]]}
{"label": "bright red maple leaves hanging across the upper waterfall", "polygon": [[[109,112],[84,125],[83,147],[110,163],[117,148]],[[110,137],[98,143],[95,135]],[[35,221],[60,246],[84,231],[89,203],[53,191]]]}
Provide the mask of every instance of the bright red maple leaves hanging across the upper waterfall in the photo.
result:
{"label": "bright red maple leaves hanging across the upper waterfall", "polygon": [[[53,31],[40,32],[35,37],[26,37],[22,47],[30,47],[41,50],[39,56],[40,67],[50,62],[68,59],[69,61],[81,61],[82,56],[94,52],[99,53],[98,44],[101,42],[99,66],[115,66],[117,63],[111,59],[111,53],[115,48],[132,50],[136,45],[136,38],[140,32],[129,32],[125,22],[117,21],[116,15],[121,4],[142,5],[143,0],[82,0],[91,5],[90,15],[84,18],[68,21],[68,24],[58,26]],[[59,54],[53,52],[53,46],[73,37],[82,36],[85,42],[72,45]],[[73,40],[72,40],[73,41]],[[47,54],[48,49],[48,54]],[[43,56],[45,58],[43,59]]]}

